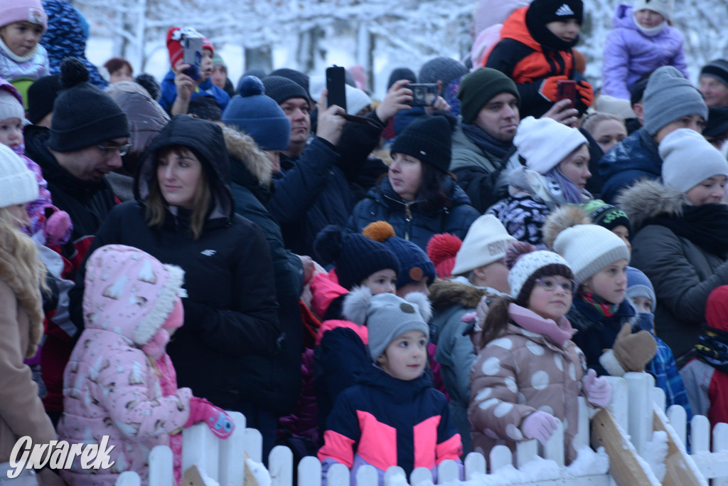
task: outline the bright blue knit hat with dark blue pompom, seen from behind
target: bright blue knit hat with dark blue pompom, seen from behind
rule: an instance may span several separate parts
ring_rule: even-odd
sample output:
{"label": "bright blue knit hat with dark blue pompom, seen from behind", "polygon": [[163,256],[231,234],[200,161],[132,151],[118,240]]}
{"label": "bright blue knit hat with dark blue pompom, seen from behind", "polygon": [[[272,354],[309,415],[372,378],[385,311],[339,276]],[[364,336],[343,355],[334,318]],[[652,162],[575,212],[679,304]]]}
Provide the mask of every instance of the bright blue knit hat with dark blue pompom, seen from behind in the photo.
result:
{"label": "bright blue knit hat with dark blue pompom, seen from behind", "polygon": [[223,113],[223,123],[248,133],[264,150],[286,150],[290,122],[278,103],[265,95],[260,79],[247,76]]}

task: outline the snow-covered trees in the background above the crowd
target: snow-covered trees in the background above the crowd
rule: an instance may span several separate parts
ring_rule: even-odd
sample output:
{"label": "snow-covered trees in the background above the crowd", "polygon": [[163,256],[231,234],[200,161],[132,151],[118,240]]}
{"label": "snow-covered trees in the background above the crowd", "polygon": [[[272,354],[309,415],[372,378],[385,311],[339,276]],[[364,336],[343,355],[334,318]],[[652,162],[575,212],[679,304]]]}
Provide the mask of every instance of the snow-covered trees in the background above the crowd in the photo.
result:
{"label": "snow-covered trees in the background above the crowd", "polygon": [[[502,0],[487,0],[492,3]],[[487,3],[481,0],[480,3]],[[618,0],[585,2],[582,40],[587,77],[600,85],[601,51]],[[674,25],[685,36],[692,80],[700,66],[728,58],[726,0],[676,0]],[[290,67],[322,76],[326,66],[360,64],[381,98],[398,66],[418,72],[438,55],[470,52],[478,0],[76,0],[90,23],[87,57],[100,66],[121,55],[162,79],[169,69],[165,34],[191,26],[208,36],[237,83],[245,68]],[[194,20],[193,20],[194,19]]]}

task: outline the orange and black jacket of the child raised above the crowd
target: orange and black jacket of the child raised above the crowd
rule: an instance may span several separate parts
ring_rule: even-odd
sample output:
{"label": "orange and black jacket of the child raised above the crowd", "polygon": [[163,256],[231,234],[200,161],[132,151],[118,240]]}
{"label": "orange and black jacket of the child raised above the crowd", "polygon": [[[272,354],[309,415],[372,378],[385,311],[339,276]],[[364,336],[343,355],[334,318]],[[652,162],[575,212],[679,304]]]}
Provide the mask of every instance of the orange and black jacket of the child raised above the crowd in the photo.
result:
{"label": "orange and black jacket of the child raised above the crowd", "polygon": [[521,119],[540,117],[553,105],[539,94],[547,77],[566,76],[583,79],[574,69],[574,55],[569,50],[555,50],[534,39],[526,26],[529,7],[515,10],[503,23],[501,40],[483,60],[486,68],[494,68],[515,81],[521,93]]}

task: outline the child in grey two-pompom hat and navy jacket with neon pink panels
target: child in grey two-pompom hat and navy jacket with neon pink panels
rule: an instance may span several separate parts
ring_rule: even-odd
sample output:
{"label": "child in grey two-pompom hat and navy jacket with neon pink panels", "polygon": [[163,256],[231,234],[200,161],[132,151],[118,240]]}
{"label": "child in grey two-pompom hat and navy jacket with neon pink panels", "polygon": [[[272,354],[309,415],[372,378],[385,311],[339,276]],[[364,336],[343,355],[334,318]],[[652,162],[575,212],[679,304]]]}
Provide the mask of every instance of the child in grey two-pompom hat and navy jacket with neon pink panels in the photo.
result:
{"label": "child in grey two-pompom hat and navy jacket with neon pink panels", "polygon": [[424,373],[431,313],[427,297],[419,292],[405,299],[372,296],[368,289],[349,296],[344,313],[368,327],[373,363],[357,385],[341,393],[329,415],[318,452],[323,476],[332,464],[341,463],[351,469],[353,481],[360,466],[371,464],[383,485],[391,466],[407,475],[419,467],[435,474],[436,466],[450,459],[462,468],[462,442],[447,400]]}

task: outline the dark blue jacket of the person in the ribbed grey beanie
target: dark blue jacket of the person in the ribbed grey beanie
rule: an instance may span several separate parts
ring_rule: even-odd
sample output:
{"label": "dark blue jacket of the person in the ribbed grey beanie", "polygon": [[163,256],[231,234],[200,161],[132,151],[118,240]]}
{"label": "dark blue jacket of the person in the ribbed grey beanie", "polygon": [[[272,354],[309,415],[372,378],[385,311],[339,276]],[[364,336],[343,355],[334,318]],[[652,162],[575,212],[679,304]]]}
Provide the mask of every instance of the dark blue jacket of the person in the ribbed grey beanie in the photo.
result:
{"label": "dark blue jacket of the person in the ribbed grey beanie", "polygon": [[609,204],[614,204],[620,190],[639,179],[660,179],[662,158],[657,142],[644,128],[636,130],[601,157],[599,175],[604,178],[601,198]]}

